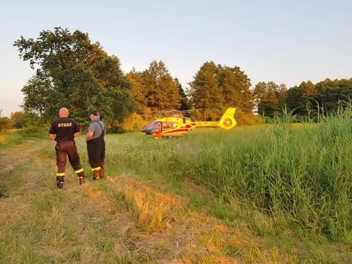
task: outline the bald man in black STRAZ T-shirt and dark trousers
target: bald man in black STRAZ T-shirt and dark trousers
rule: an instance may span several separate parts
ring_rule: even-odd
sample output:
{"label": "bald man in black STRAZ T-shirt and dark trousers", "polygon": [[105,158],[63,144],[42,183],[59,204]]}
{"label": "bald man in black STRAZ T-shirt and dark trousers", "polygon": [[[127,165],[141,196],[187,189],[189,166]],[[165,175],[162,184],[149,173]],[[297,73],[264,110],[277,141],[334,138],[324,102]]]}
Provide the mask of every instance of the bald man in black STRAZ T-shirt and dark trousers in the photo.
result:
{"label": "bald man in black STRAZ T-shirt and dark trousers", "polygon": [[55,146],[56,165],[58,167],[56,185],[59,189],[63,189],[67,156],[73,170],[79,177],[80,184],[85,182],[85,174],[77,153],[76,142],[74,141],[74,138],[79,136],[79,126],[75,120],[68,118],[67,108],[61,108],[59,116],[59,119],[52,122],[49,133],[50,139],[57,142]]}

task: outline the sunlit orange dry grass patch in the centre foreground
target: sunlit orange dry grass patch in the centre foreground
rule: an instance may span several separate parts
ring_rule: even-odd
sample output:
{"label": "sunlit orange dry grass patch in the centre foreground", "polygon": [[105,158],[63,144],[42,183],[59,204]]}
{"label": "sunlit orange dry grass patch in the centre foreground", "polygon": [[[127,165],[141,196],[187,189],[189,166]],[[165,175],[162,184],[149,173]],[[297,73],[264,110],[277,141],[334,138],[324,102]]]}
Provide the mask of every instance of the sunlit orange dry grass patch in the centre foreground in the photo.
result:
{"label": "sunlit orange dry grass patch in the centre foreground", "polygon": [[123,193],[127,205],[109,229],[131,241],[138,251],[148,252],[163,264],[239,263],[230,256],[231,245],[240,244],[238,234],[220,220],[192,212],[189,198],[155,191],[129,175],[108,181]]}

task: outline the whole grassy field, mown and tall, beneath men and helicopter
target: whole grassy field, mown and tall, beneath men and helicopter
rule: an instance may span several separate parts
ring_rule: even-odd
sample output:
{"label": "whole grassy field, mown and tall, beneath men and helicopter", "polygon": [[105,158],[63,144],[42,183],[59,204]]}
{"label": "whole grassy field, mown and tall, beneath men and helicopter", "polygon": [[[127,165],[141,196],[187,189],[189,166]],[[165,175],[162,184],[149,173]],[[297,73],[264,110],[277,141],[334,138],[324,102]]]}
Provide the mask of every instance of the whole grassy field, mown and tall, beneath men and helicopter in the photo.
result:
{"label": "whole grassy field, mown and tall, beneath men and helicopter", "polygon": [[279,121],[107,135],[106,179],[63,191],[54,142],[3,135],[0,263],[352,263],[351,117]]}

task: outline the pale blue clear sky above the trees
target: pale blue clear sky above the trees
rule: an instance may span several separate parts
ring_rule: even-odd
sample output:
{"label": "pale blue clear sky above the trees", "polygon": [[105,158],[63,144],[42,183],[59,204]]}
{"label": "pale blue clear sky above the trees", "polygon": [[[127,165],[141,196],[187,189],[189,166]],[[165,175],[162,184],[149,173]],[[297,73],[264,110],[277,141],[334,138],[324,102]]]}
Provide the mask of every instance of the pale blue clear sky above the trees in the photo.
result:
{"label": "pale blue clear sky above the trees", "polygon": [[128,72],[162,60],[184,88],[206,61],[240,66],[254,86],[352,77],[352,1],[2,1],[1,116],[21,110],[34,73],[12,45],[55,26],[87,32]]}

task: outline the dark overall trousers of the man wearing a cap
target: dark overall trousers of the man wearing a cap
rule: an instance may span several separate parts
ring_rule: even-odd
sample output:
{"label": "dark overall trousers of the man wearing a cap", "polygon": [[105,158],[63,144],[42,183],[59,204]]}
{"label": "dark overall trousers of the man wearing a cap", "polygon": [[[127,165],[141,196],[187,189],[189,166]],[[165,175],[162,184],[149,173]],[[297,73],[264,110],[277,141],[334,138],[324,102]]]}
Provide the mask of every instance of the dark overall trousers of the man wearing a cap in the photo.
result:
{"label": "dark overall trousers of the man wearing a cap", "polygon": [[89,165],[92,170],[100,170],[104,167],[105,160],[105,140],[104,134],[98,138],[87,141],[87,151]]}

